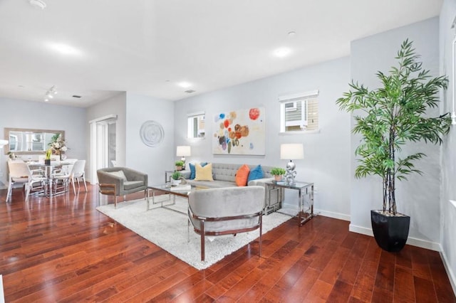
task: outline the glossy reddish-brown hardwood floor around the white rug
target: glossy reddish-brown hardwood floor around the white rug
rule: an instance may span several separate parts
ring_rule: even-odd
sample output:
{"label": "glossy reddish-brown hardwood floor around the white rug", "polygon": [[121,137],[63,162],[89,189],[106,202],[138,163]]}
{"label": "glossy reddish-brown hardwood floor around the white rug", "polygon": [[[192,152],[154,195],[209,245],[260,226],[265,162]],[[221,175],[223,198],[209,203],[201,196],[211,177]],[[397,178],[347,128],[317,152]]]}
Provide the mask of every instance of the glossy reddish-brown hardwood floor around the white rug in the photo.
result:
{"label": "glossy reddish-brown hardwood floor around the white rug", "polygon": [[198,271],[96,211],[95,186],[5,197],[6,302],[456,302],[438,252],[384,252],[343,220],[289,220],[264,235],[261,257],[254,242]]}

